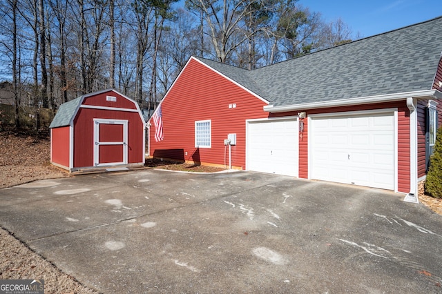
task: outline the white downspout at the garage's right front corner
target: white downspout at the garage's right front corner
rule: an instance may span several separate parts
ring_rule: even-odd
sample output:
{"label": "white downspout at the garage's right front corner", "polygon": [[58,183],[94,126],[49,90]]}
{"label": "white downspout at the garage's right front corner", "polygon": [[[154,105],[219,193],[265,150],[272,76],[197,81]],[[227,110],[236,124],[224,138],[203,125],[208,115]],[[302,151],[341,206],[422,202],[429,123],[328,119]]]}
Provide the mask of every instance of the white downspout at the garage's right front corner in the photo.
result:
{"label": "white downspout at the garage's right front corner", "polygon": [[403,201],[419,204],[417,190],[417,111],[416,99],[407,98],[407,108],[410,110],[410,193]]}

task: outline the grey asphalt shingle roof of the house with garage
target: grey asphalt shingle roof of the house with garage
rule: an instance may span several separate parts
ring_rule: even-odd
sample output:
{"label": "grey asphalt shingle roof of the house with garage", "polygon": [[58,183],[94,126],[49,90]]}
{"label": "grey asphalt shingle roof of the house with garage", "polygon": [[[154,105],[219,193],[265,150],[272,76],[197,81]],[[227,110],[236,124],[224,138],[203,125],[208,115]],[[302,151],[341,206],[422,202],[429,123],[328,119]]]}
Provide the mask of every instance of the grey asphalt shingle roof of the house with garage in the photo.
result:
{"label": "grey asphalt shingle roof of the house with garage", "polygon": [[273,106],[430,90],[442,17],[256,70],[200,59]]}

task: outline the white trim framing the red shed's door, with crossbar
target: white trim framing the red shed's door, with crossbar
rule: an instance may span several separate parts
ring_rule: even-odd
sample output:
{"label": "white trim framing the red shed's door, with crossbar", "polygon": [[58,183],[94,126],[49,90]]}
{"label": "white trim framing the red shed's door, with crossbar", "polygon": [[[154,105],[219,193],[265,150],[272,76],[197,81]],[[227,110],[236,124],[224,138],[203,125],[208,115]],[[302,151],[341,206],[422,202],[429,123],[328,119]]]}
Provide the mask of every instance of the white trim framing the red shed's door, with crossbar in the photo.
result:
{"label": "white trim framing the red shed's door, with crossbar", "polygon": [[[121,124],[123,126],[123,141],[121,142],[100,142],[99,125],[100,124]],[[99,164],[99,146],[101,145],[122,145],[123,161],[108,162]],[[118,164],[127,164],[128,162],[128,120],[127,119],[94,119],[94,166],[113,166]]]}

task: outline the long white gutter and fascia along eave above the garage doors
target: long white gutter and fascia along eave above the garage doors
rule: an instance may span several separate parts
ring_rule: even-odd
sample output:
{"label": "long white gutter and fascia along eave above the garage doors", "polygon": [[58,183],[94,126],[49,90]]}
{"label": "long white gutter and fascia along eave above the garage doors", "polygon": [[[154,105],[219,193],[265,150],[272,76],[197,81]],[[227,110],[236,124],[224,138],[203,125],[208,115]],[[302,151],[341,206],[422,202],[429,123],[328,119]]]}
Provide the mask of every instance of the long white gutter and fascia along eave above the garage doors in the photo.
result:
{"label": "long white gutter and fascia along eave above the garage doors", "polygon": [[402,92],[387,95],[367,96],[360,98],[340,99],[332,101],[312,102],[305,104],[293,104],[287,106],[264,106],[264,111],[267,112],[287,112],[294,110],[306,110],[315,108],[327,108],[336,106],[349,106],[361,104],[374,104],[388,101],[397,101],[406,98],[420,98],[420,99],[442,99],[442,92],[439,90],[421,90],[414,92]]}

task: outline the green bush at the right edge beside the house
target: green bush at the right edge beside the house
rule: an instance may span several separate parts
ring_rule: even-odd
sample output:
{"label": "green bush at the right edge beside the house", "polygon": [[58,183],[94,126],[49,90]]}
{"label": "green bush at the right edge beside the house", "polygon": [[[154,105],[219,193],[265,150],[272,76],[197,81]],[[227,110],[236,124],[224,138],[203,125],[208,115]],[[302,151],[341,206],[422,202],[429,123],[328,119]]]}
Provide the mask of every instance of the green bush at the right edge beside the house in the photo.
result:
{"label": "green bush at the right edge beside the house", "polygon": [[437,130],[430,169],[425,180],[425,192],[432,197],[442,198],[442,127]]}

